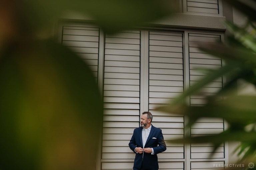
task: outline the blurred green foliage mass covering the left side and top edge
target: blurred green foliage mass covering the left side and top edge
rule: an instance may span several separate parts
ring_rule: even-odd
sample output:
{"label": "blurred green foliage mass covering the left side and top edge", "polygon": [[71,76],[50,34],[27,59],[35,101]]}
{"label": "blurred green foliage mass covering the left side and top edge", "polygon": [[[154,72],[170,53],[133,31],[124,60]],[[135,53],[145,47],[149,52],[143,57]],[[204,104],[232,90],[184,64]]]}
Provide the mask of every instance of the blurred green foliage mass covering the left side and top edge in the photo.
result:
{"label": "blurred green foliage mass covering the left side and top edge", "polygon": [[95,169],[103,105],[88,66],[52,38],[69,12],[105,32],[170,13],[154,0],[2,0],[0,169]]}

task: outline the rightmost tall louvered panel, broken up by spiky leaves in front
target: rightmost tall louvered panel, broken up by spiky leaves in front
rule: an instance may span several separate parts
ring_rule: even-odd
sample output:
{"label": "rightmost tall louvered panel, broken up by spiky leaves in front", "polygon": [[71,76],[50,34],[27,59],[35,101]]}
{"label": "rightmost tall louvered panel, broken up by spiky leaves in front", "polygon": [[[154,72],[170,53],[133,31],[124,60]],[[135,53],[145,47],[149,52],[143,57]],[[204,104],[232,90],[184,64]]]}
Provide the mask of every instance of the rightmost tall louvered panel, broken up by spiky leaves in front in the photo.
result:
{"label": "rightmost tall louvered panel, broken up by spiky leaves in front", "polygon": [[[190,85],[199,81],[205,74],[195,70],[198,68],[220,68],[222,60],[215,58],[207,53],[200,51],[196,42],[220,42],[219,35],[209,34],[192,34],[189,33],[189,61],[190,61]],[[206,97],[217,93],[222,89],[222,77],[217,78],[210,84],[206,85],[200,95],[190,96],[191,106],[203,106],[206,104]],[[221,98],[219,99],[221,100]],[[224,121],[223,119],[200,119],[193,127],[191,127],[191,136],[217,134],[223,132]],[[204,159],[209,157],[212,153],[213,145],[195,145],[191,144],[191,159]],[[221,145],[213,154],[212,158],[224,158],[224,145]],[[192,165],[191,165],[192,168]],[[193,169],[193,168],[192,168]]]}

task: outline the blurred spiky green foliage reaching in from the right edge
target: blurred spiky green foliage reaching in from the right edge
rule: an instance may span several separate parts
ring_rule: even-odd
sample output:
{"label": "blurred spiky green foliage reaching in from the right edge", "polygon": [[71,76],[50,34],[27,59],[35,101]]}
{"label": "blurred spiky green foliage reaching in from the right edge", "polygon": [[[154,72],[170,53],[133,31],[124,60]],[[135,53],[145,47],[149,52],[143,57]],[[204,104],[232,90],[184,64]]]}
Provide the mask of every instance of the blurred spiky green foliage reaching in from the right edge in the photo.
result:
{"label": "blurred spiky green foliage reaching in from the right edge", "polygon": [[[237,150],[241,158],[239,161],[248,164],[256,158],[256,95],[240,95],[237,82],[243,81],[256,86],[256,8],[253,8],[256,6],[256,1],[251,1],[253,5],[238,0],[226,0],[226,2],[247,16],[247,24],[238,27],[233,21],[226,21],[225,25],[232,34],[227,37],[225,43],[199,43],[201,50],[222,58],[225,64],[216,70],[202,69],[201,71],[208,73],[207,76],[171,104],[158,109],[185,115],[189,120],[185,130],[190,130],[200,118],[223,118],[228,123],[228,127],[222,133],[195,137],[188,135],[172,142],[210,142],[217,149],[225,141],[238,141],[240,145]],[[200,93],[200,89],[220,76],[224,76],[226,82],[218,93],[207,98],[206,105],[199,107],[184,103],[186,98]]]}

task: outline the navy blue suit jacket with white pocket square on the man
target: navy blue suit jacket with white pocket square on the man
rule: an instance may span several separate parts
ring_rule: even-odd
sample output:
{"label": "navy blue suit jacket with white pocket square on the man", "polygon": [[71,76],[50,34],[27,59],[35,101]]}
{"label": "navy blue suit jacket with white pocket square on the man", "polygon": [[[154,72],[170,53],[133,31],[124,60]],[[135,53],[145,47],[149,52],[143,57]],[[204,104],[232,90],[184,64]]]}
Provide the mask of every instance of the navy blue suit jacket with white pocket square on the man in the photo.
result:
{"label": "navy blue suit jacket with white pocket square on the man", "polygon": [[[133,131],[133,135],[130,140],[129,147],[134,153],[136,153],[134,151],[136,147],[143,148],[142,129],[143,129],[142,127],[139,127],[134,129]],[[151,153],[144,152],[144,155],[143,155],[143,153],[142,154],[136,153],[133,168],[140,169],[142,164],[143,164],[143,168],[145,169],[159,168],[158,161],[157,161],[157,154],[166,150],[164,137],[162,134],[162,130],[160,128],[156,128],[153,125],[151,125],[151,130],[145,144],[145,148],[147,147],[153,148],[154,154],[152,155]]]}

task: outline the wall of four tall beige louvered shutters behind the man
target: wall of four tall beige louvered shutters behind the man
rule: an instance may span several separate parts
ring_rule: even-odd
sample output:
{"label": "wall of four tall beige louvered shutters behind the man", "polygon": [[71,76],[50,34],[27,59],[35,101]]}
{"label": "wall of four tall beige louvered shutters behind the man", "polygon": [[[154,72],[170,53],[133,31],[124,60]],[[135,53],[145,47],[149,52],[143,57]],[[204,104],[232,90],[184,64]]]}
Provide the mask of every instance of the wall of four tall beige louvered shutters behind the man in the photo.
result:
{"label": "wall of four tall beige louvered shutters behind the man", "polygon": [[[99,51],[102,53],[104,50],[101,169],[132,169],[135,154],[129,149],[128,143],[133,129],[140,126],[142,102],[144,106],[148,102],[149,111],[153,114],[152,124],[162,129],[167,144],[167,150],[158,154],[159,169],[184,170],[187,167],[193,170],[210,170],[214,168],[214,164],[225,163],[224,144],[216,150],[211,160],[205,160],[212,152],[211,144],[191,144],[185,147],[183,144],[168,142],[170,139],[184,136],[184,117],[154,110],[156,106],[166,104],[170,98],[183,93],[184,79],[193,85],[205,76],[196,71],[196,67],[220,68],[222,66],[221,59],[203,53],[195,43],[215,43],[220,41],[218,34],[152,30],[142,31],[147,38],[141,39],[143,36],[140,31],[123,31],[115,35],[105,35],[105,37],[101,33],[100,46],[99,28],[96,26],[64,24],[62,32],[62,44],[74,50],[89,63],[95,78],[98,75]],[[183,42],[183,37],[188,41]],[[143,42],[145,40],[147,43]],[[141,53],[141,49],[148,52]],[[186,60],[188,65],[183,63],[183,50],[188,51],[185,53],[189,59],[189,63]],[[140,56],[141,54],[143,56]],[[101,57],[103,58],[103,55]],[[145,59],[146,57],[148,60]],[[184,73],[184,67],[189,68],[189,71]],[[141,70],[144,70],[143,74]],[[141,76],[146,76],[147,78],[144,77],[143,81],[148,81],[148,84],[144,82],[143,87],[140,87],[143,85]],[[188,79],[187,76],[189,76]],[[215,94],[222,88],[222,79],[219,77],[206,85],[201,94],[190,96],[190,105],[203,106],[206,103],[205,96]],[[143,92],[148,93],[148,98],[145,94],[141,98],[142,89],[148,89]],[[146,100],[148,101],[145,102]],[[204,118],[198,120],[191,128],[190,135],[215,134],[222,132],[223,129],[222,119]],[[184,157],[184,155],[187,156]]]}

